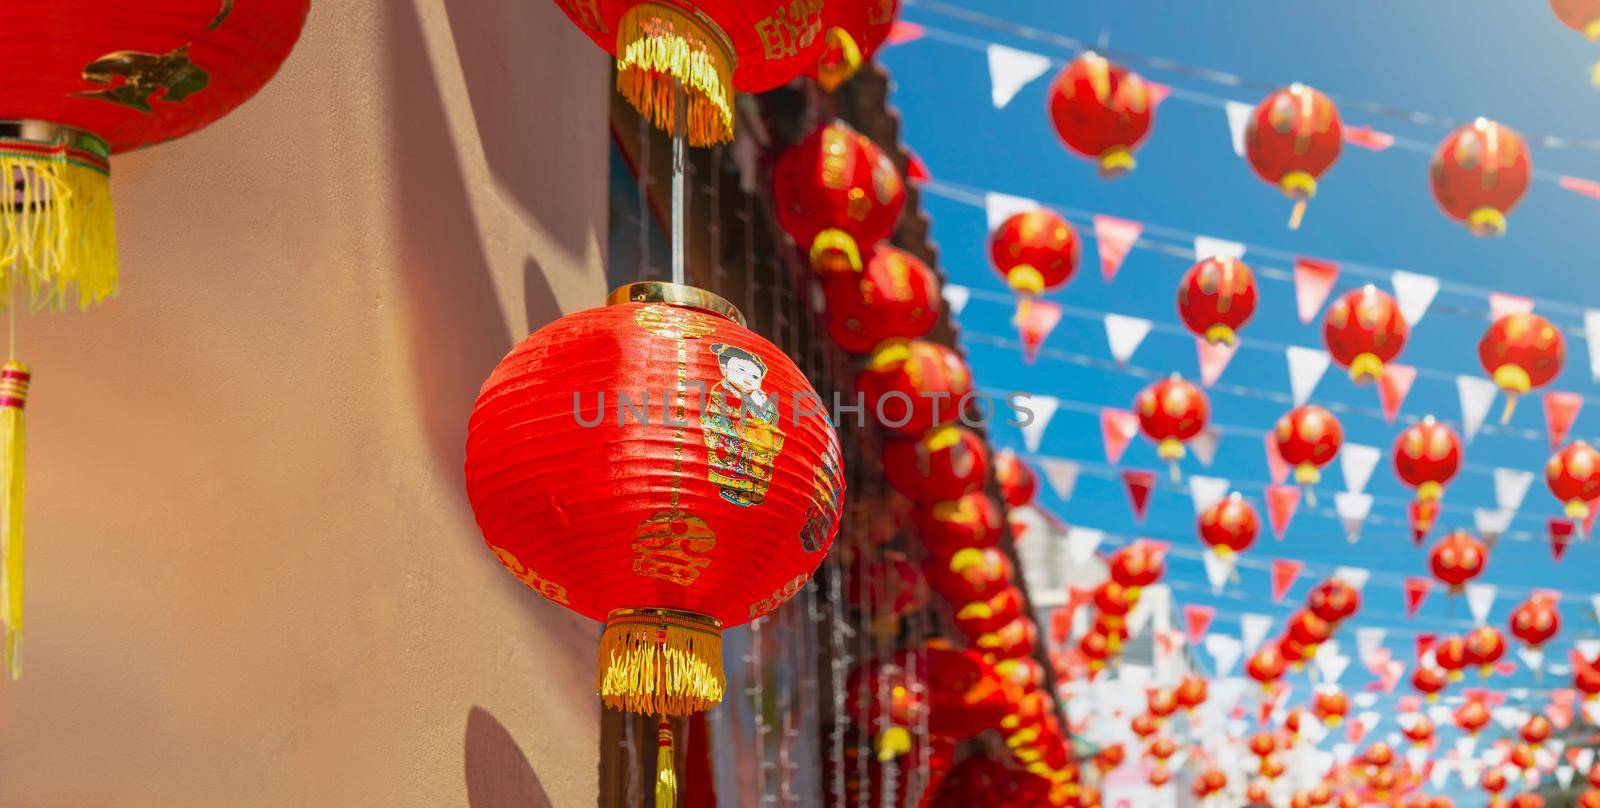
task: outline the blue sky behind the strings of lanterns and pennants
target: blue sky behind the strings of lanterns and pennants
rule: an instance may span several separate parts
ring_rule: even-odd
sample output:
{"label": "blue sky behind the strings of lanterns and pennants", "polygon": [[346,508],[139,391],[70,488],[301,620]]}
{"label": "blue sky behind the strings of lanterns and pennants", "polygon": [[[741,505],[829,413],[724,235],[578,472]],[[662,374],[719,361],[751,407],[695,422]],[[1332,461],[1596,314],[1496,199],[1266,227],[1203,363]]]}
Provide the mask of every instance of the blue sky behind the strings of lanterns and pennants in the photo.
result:
{"label": "blue sky behind the strings of lanterns and pennants", "polygon": [[[1109,43],[1110,50],[1166,58],[1251,82],[1304,82],[1339,99],[1458,120],[1486,115],[1523,133],[1600,136],[1600,91],[1589,85],[1589,66],[1600,59],[1600,48],[1560,26],[1539,2],[947,2],[1042,32]],[[1582,309],[1600,307],[1600,286],[1590,280],[1597,269],[1592,234],[1600,222],[1600,202],[1574,195],[1550,181],[1555,174],[1600,179],[1600,152],[1534,147],[1534,165],[1544,179],[1533,182],[1512,213],[1509,234],[1483,240],[1437,210],[1427,184],[1429,155],[1405,147],[1430,147],[1446,134],[1445,128],[1379,117],[1346,104],[1342,117],[1347,126],[1370,125],[1395,134],[1402,144],[1386,152],[1346,144],[1339,162],[1323,176],[1306,224],[1293,232],[1285,227],[1286,200],[1234,155],[1221,109],[1186,98],[1168,99],[1138,152],[1139,168],[1122,179],[1102,181],[1093,163],[1066,152],[1050,125],[1045,98],[1054,69],[997,110],[990,102],[986,54],[970,46],[970,40],[997,42],[1058,61],[1069,59],[1072,51],[958,19],[930,0],[907,3],[902,19],[926,26],[930,35],[890,48],[880,59],[894,77],[893,104],[904,118],[902,136],[928,163],[936,181],[1030,197],[1069,213],[1085,238],[1085,262],[1077,277],[1051,293],[1050,299],[1158,323],[1131,360],[1134,373],[1082,366],[1050,355],[1024,365],[1013,347],[995,344],[1013,341],[1014,328],[1010,325],[1011,307],[990,299],[1006,290],[987,261],[984,211],[955,198],[960,194],[923,195],[923,208],[934,222],[942,270],[952,283],[978,290],[958,318],[978,382],[1069,402],[1040,446],[1042,454],[1088,464],[1070,502],[1061,502],[1042,488],[1042,504],[1069,523],[1197,547],[1195,514],[1187,494],[1171,486],[1157,491],[1149,518],[1136,525],[1122,483],[1096,477],[1090,469],[1104,464],[1094,408],[1128,408],[1134,394],[1149,382],[1149,378],[1136,374],[1141,370],[1197,378],[1192,339],[1162,330],[1181,325],[1173,298],[1190,261],[1134,250],[1115,283],[1106,285],[1093,258],[1088,222],[1072,216],[1075,211],[1107,213],[1170,229],[1171,234],[1158,237],[1170,245],[1182,243],[1179,234],[1245,242],[1253,246],[1245,261],[1266,269],[1286,270],[1294,254],[1344,261],[1347,269],[1334,294],[1366,282],[1387,286],[1381,278],[1360,277],[1355,266],[1374,274],[1405,269],[1438,277],[1445,291],[1414,328],[1402,357],[1402,362],[1422,368],[1422,378],[1405,402],[1403,418],[1432,413],[1459,424],[1458,394],[1448,376],[1483,373],[1477,362],[1477,341],[1488,325],[1488,304],[1480,290],[1536,298],[1536,310],[1566,330],[1566,370],[1552,387],[1590,397],[1574,435],[1590,442],[1600,435],[1600,400],[1594,398],[1600,395],[1600,386],[1589,376],[1589,347],[1581,336]],[[1226,86],[1152,69],[1141,72],[1178,90],[1251,104],[1264,94],[1254,86]],[[1254,250],[1258,246],[1270,250]],[[1259,275],[1258,282],[1261,304],[1254,320],[1245,326],[1245,346],[1222,374],[1219,387],[1259,392],[1211,392],[1213,422],[1237,429],[1224,435],[1210,470],[1192,458],[1184,469],[1187,474],[1238,480],[1240,490],[1264,517],[1261,482],[1269,472],[1258,434],[1270,429],[1288,410],[1290,405],[1280,400],[1288,394],[1288,373],[1282,349],[1269,350],[1259,342],[1251,347],[1251,341],[1322,347],[1322,330],[1320,320],[1302,325],[1296,318],[1290,283]],[[1051,349],[1109,360],[1104,328],[1088,317],[1069,314],[1046,341],[1046,354]],[[1277,542],[1264,531],[1250,550],[1262,560],[1290,557],[1309,565],[1307,574],[1282,605],[1267,598],[1267,574],[1262,570],[1243,570],[1242,584],[1222,597],[1211,597],[1205,590],[1200,563],[1189,558],[1170,562],[1174,597],[1182,603],[1216,606],[1219,614],[1213,630],[1237,630],[1237,616],[1245,611],[1274,614],[1280,627],[1290,610],[1304,603],[1307,589],[1322,574],[1334,565],[1355,563],[1371,568],[1374,578],[1354,624],[1389,629],[1389,646],[1397,658],[1410,662],[1416,632],[1466,630],[1470,619],[1466,603],[1451,605],[1438,590],[1416,619],[1405,616],[1398,581],[1426,576],[1427,568],[1426,549],[1416,549],[1403,526],[1403,501],[1410,498],[1410,490],[1400,485],[1389,464],[1390,445],[1403,422],[1386,424],[1374,418],[1376,390],[1354,387],[1339,368],[1328,371],[1312,402],[1357,408],[1342,416],[1346,440],[1379,446],[1384,453],[1366,488],[1376,504],[1362,541],[1354,546],[1346,542],[1333,517],[1331,499],[1341,482],[1338,469],[1331,467],[1320,486],[1320,507],[1302,504],[1285,541]],[[1491,424],[1499,406],[1498,402]],[[1600,624],[1589,605],[1589,592],[1595,589],[1592,570],[1597,549],[1592,542],[1576,544],[1562,563],[1555,563],[1542,541],[1544,520],[1560,515],[1560,506],[1542,478],[1550,446],[1542,440],[1539,402],[1523,402],[1509,429],[1491,430],[1466,448],[1467,467],[1448,488],[1445,514],[1430,539],[1453,526],[1470,528],[1472,509],[1494,501],[1491,469],[1536,472],[1512,523],[1514,533],[1499,542],[1483,581],[1504,587],[1491,616],[1491,624],[1502,630],[1506,614],[1530,587],[1562,589],[1566,594],[1562,606],[1565,626],[1562,642],[1550,648],[1550,658],[1565,658],[1571,640],[1600,637]],[[994,429],[992,438],[997,445],[1021,450],[1021,438],[1005,427]],[[1160,469],[1154,445],[1142,440],[1128,450],[1122,464]],[[1339,634],[1346,653],[1352,654],[1354,624]],[[1352,666],[1344,686],[1354,693],[1368,680],[1358,666]],[[1538,686],[1526,674],[1493,682]],[[1566,686],[1565,677],[1546,677],[1544,686],[1554,682]],[[1400,690],[1410,694],[1406,685]],[[1306,694],[1302,683],[1298,698]],[[1536,696],[1534,704],[1542,704],[1542,698]],[[1378,733],[1392,728],[1384,723]]]}

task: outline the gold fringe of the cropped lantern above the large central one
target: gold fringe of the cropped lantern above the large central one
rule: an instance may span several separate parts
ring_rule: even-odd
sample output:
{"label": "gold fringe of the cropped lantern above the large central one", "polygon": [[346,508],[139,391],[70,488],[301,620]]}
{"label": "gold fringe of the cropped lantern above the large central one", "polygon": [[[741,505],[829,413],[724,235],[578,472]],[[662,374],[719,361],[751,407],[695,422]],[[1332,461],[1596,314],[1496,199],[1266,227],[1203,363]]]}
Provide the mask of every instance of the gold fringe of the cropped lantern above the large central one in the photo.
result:
{"label": "gold fringe of the cropped lantern above the large central one", "polygon": [[672,133],[674,91],[690,94],[690,146],[733,139],[733,48],[707,19],[638,3],[616,27],[616,90],[658,130]]}

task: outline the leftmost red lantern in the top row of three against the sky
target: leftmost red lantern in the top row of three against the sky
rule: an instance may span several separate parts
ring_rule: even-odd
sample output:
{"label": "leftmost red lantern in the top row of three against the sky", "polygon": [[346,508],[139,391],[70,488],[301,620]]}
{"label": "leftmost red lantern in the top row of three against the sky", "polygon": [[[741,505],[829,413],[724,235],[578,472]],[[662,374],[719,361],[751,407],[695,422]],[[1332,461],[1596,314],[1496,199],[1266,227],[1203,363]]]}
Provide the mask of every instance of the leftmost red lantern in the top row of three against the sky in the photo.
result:
{"label": "leftmost red lantern in the top row of three against the sky", "polygon": [[1133,150],[1150,133],[1155,104],[1139,74],[1086,51],[1050,88],[1050,118],[1074,154],[1099,163],[1102,178],[1133,171]]}

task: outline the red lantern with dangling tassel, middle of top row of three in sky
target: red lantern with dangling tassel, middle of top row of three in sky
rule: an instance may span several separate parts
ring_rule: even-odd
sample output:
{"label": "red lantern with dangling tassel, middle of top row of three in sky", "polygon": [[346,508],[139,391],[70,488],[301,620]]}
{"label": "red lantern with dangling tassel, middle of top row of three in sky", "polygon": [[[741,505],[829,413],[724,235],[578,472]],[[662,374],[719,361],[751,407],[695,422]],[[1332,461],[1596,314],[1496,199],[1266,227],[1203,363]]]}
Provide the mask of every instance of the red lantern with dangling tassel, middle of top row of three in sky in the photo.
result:
{"label": "red lantern with dangling tassel, middle of top row of three in sky", "polygon": [[1317,178],[1339,158],[1339,109],[1328,96],[1290,85],[1256,104],[1245,128],[1245,158],[1256,176],[1294,200],[1290,229],[1298,229],[1306,203],[1317,195]]}

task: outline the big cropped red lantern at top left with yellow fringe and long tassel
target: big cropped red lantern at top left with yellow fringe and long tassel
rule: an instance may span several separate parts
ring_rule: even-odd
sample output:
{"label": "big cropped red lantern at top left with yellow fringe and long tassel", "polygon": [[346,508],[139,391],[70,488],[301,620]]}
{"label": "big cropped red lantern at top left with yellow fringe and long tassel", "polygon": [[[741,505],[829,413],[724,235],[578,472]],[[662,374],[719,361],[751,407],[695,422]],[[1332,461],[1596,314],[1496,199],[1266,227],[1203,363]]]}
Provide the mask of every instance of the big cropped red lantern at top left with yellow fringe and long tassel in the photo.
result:
{"label": "big cropped red lantern at top left with yellow fringe and long tassel", "polygon": [[[0,16],[0,304],[88,309],[117,293],[110,157],[198,131],[256,94],[310,0],[56,0]],[[21,675],[22,410],[30,371],[0,370],[0,629]]]}

